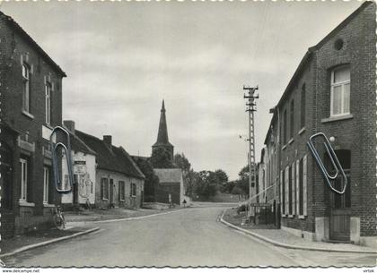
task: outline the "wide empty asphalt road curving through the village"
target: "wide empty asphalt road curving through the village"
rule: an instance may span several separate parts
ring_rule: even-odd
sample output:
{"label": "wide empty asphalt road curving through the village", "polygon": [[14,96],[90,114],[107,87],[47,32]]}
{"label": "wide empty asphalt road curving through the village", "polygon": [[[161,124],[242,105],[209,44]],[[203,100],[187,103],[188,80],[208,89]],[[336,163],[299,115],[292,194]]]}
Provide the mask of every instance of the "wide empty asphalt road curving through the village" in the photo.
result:
{"label": "wide empty asphalt road curving through the village", "polygon": [[183,209],[130,221],[99,223],[90,235],[4,259],[14,267],[329,266],[375,265],[373,255],[277,248],[224,226],[224,208]]}

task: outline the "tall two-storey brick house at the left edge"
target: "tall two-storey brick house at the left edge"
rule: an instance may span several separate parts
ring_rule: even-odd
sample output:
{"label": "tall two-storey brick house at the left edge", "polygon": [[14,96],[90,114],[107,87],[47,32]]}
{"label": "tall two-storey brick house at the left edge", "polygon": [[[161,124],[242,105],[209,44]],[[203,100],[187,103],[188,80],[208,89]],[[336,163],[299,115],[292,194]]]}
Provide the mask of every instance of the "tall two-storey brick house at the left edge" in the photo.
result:
{"label": "tall two-storey brick house at the left edge", "polygon": [[59,196],[51,182],[49,134],[62,124],[66,73],[0,12],[1,234],[51,224]]}

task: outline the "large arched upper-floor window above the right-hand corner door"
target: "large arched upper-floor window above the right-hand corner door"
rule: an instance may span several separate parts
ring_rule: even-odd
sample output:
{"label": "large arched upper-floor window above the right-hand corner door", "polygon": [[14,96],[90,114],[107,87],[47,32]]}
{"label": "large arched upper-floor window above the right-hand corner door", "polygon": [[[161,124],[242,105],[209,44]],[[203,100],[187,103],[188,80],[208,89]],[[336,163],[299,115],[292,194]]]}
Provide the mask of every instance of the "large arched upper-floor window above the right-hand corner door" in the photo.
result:
{"label": "large arched upper-floor window above the right-hand corner door", "polygon": [[331,72],[330,115],[349,114],[350,69],[341,66]]}

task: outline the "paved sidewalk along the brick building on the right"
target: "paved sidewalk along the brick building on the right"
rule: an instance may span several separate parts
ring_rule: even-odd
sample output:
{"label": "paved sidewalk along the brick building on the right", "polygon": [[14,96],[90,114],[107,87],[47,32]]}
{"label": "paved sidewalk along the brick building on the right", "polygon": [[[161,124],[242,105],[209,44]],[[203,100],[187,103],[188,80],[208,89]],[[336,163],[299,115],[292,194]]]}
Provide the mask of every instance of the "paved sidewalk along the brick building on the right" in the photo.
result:
{"label": "paved sidewalk along the brick building on the right", "polygon": [[371,252],[377,254],[377,250],[372,247],[351,243],[311,242],[292,235],[285,230],[275,229],[273,226],[241,226],[241,216],[237,215],[236,209],[227,209],[224,211],[221,220],[227,226],[237,228],[267,243],[273,243],[285,248],[328,252]]}

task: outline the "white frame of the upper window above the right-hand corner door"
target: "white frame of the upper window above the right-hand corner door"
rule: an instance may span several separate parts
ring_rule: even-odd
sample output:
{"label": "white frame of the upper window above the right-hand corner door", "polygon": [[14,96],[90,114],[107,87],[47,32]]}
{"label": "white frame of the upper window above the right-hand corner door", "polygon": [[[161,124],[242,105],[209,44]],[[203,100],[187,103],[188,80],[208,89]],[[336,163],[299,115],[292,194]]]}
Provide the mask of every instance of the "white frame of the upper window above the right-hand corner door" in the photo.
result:
{"label": "white frame of the upper window above the right-hand corner door", "polygon": [[[346,80],[346,81],[338,81],[338,82],[334,82],[335,78],[334,78],[334,74],[340,70],[340,69],[343,69],[343,68],[348,68],[348,71],[349,71],[349,79]],[[349,106],[348,106],[348,112],[345,112],[344,109],[345,109],[345,86],[346,84],[349,85]],[[340,86],[341,87],[341,98],[340,98],[340,114],[334,114],[334,89],[335,87],[338,87]],[[330,81],[330,116],[331,117],[338,117],[338,116],[342,116],[342,115],[350,115],[351,114],[351,67],[349,64],[344,64],[344,65],[340,65],[340,66],[337,66],[335,68],[333,68],[331,70],[331,81]]]}

